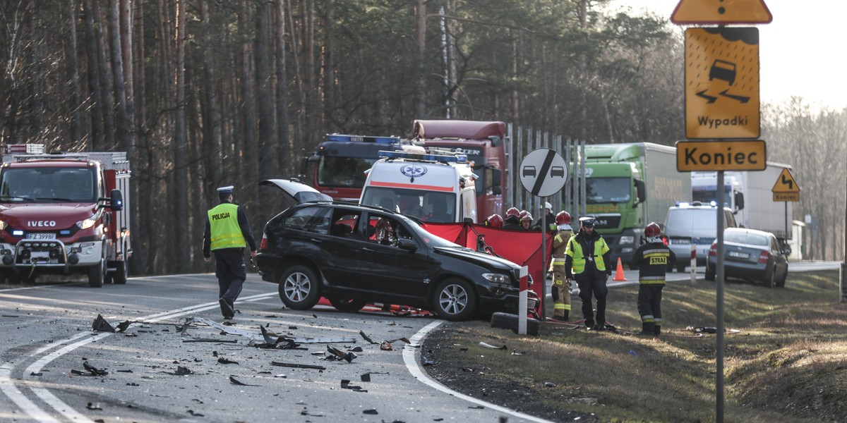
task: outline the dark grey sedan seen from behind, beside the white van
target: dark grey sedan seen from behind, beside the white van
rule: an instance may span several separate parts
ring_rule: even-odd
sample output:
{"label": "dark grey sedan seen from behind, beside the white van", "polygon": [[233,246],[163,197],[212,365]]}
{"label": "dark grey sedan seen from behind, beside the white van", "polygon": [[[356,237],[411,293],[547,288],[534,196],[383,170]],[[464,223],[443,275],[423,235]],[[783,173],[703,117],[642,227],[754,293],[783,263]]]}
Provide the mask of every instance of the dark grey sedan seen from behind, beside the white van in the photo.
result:
{"label": "dark grey sedan seen from behind, beside the white van", "polygon": [[[767,286],[785,286],[789,274],[787,250],[780,247],[773,233],[746,228],[723,231],[724,277],[762,281]],[[706,279],[715,280],[717,240],[711,244],[706,261]]]}

